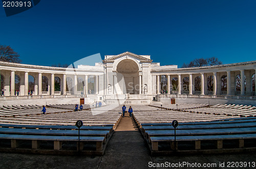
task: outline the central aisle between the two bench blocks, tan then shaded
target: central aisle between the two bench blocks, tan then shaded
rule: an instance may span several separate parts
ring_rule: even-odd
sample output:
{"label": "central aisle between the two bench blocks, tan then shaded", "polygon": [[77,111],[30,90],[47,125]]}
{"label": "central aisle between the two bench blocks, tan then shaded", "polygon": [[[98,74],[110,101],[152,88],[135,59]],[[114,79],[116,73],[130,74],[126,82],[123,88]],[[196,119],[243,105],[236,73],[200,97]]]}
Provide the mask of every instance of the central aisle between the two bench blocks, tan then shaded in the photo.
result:
{"label": "central aisle between the two bench blocks, tan then shaded", "polygon": [[110,139],[99,168],[145,168],[153,161],[136,123],[129,114],[125,115]]}

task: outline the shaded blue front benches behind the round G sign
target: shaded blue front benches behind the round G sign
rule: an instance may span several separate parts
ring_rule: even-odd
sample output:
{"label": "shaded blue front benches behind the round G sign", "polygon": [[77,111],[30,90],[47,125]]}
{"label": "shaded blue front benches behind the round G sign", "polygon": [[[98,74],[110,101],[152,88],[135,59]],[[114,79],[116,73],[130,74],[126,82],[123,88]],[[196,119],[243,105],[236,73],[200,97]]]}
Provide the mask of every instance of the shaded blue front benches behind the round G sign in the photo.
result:
{"label": "shaded blue front benches behind the round G sign", "polygon": [[[31,145],[31,152],[37,150],[37,153],[46,153],[47,151],[49,153],[52,151],[52,147],[54,150],[61,150],[63,145],[64,149],[61,152],[65,150],[65,152],[75,153],[79,148],[83,154],[93,152],[102,155],[113,133],[113,126],[82,126],[79,131],[78,146],[78,130],[74,130],[77,129],[75,126],[8,124],[0,124],[0,126],[0,138],[2,139],[0,150],[5,150],[11,143],[9,148],[14,152],[23,152],[28,144]],[[73,145],[70,142],[76,144]],[[11,150],[8,149],[8,151]],[[61,152],[55,152],[55,154]]]}

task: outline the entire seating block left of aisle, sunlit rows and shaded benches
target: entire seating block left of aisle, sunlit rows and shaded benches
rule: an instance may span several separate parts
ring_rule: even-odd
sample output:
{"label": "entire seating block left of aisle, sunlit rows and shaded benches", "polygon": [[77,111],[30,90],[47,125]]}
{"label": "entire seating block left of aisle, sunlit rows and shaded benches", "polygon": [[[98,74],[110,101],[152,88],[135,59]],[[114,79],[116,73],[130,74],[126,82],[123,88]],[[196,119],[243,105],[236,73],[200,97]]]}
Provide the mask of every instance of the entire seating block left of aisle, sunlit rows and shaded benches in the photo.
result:
{"label": "entire seating block left of aisle, sunlit rows and shaded benches", "polygon": [[[69,106],[74,105],[65,108]],[[34,107],[27,108],[24,116],[21,114],[24,109],[1,110],[9,110],[8,113],[12,115],[8,118],[0,117],[0,138],[6,143],[0,150],[13,152],[24,152],[26,149],[29,153],[51,153],[53,149],[55,154],[72,154],[79,149],[82,154],[102,155],[113,130],[121,120],[121,114],[116,111],[100,111],[93,115],[90,110],[76,112],[73,109],[48,107],[47,112],[59,110],[62,113],[41,115],[35,113],[38,108]],[[83,121],[79,144],[78,128],[75,126],[77,120]],[[26,147],[28,144],[30,148]],[[10,150],[5,148],[8,145]]]}

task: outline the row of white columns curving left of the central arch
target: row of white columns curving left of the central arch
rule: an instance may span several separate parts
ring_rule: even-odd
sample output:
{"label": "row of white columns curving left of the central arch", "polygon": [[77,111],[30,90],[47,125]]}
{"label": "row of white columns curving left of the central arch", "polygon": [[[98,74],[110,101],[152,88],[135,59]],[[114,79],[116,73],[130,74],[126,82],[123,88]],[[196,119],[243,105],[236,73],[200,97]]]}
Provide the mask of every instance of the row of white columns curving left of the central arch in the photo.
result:
{"label": "row of white columns curving left of the central arch", "polygon": [[[88,77],[90,75],[77,75],[77,74],[59,74],[59,73],[35,73],[35,72],[20,72],[20,71],[0,71],[3,74],[3,91],[5,96],[15,96],[15,72],[19,75],[19,96],[28,96],[29,95],[29,75],[34,77],[34,89],[33,95],[66,95],[66,94],[81,94],[77,93],[77,79],[83,77],[83,94],[88,95]],[[42,76],[48,78],[48,91],[42,90]],[[99,94],[99,75],[94,76],[94,92]],[[55,91],[55,77],[60,79],[60,91]],[[72,92],[67,91],[67,77],[71,77]]]}

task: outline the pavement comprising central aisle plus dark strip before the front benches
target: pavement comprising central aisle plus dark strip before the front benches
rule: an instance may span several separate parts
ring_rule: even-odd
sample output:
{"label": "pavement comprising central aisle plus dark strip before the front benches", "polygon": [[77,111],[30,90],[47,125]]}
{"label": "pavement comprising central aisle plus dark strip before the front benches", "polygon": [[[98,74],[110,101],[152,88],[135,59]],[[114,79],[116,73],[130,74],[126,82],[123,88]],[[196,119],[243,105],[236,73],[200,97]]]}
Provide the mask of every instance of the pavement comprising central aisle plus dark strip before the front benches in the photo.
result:
{"label": "pavement comprising central aisle plus dark strip before the front benches", "polygon": [[[0,153],[0,168],[163,168],[151,166],[169,163],[170,165],[178,165],[178,167],[169,168],[200,168],[191,167],[195,163],[200,163],[200,165],[216,164],[214,167],[201,166],[201,168],[228,168],[228,162],[247,162],[246,168],[255,168],[252,167],[252,163],[256,162],[255,159],[255,152],[246,154],[152,157],[135,122],[130,117],[124,117],[112,135],[103,156]],[[183,162],[187,165],[181,167],[179,164]],[[249,162],[250,167],[248,167]],[[220,163],[224,164],[224,167],[220,167]]]}

